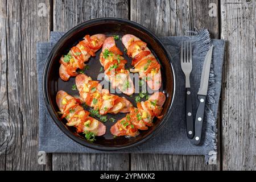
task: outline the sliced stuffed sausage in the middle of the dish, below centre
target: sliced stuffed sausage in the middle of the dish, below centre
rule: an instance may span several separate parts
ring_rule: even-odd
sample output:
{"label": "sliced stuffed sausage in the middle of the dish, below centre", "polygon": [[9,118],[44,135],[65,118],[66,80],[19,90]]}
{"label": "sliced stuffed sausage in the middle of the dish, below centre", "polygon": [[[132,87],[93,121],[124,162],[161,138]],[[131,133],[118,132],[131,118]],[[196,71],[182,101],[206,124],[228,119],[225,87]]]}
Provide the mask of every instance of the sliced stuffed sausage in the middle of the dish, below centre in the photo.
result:
{"label": "sliced stuffed sausage in the middle of the dish, below centre", "polygon": [[124,97],[110,94],[109,90],[102,89],[98,81],[85,74],[76,76],[76,87],[79,90],[81,100],[86,105],[98,110],[101,115],[107,113],[128,113],[133,105]]}

